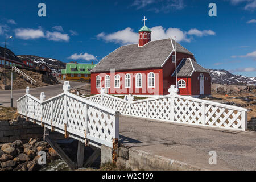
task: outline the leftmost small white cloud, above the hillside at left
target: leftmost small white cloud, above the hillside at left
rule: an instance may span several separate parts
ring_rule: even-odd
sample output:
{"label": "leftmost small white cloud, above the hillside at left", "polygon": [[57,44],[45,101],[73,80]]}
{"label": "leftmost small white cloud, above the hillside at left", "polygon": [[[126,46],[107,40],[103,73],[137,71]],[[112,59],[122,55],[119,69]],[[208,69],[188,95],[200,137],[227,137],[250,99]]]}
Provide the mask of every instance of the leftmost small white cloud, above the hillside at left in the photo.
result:
{"label": "leftmost small white cloud, above the hillside at left", "polygon": [[44,38],[44,32],[40,29],[16,28],[14,32],[17,38],[24,40]]}

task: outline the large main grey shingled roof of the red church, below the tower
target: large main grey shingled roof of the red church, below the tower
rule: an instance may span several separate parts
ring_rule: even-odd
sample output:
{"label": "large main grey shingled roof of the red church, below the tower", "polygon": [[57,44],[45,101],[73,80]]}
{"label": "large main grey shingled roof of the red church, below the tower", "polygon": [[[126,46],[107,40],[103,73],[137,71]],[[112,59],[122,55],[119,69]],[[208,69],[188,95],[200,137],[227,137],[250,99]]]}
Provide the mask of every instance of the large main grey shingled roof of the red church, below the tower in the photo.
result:
{"label": "large main grey shingled roof of the red church, below the tower", "polygon": [[[172,40],[172,42],[174,43],[174,40]],[[193,55],[177,42],[176,48],[177,52]],[[143,47],[138,47],[138,44],[121,46],[108,56],[104,57],[91,72],[109,72],[110,69],[122,71],[130,69],[160,68],[172,50],[171,39],[151,41]]]}

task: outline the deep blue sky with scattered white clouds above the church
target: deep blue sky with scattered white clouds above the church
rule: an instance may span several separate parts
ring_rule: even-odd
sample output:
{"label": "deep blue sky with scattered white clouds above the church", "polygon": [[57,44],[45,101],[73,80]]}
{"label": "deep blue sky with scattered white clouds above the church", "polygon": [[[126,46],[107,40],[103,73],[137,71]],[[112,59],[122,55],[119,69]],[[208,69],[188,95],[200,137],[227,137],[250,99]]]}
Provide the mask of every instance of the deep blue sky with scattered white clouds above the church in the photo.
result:
{"label": "deep blue sky with scattered white clouds above the church", "polygon": [[[211,2],[217,17],[208,15]],[[9,0],[0,6],[0,45],[13,36],[7,46],[16,55],[97,62],[137,43],[143,16],[153,40],[176,36],[203,67],[256,77],[256,0]]]}

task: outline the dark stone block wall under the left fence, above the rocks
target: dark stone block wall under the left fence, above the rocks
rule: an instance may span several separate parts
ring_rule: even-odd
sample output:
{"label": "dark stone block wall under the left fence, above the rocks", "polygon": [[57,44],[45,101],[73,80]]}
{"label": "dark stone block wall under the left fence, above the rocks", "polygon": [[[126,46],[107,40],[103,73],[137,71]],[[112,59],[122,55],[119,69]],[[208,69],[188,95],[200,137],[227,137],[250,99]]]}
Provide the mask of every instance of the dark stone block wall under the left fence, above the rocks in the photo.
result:
{"label": "dark stone block wall under the left fence, above the rocks", "polygon": [[40,125],[27,122],[26,119],[19,118],[18,121],[0,121],[0,143],[14,142],[22,140],[28,142],[30,138],[43,139],[44,128]]}

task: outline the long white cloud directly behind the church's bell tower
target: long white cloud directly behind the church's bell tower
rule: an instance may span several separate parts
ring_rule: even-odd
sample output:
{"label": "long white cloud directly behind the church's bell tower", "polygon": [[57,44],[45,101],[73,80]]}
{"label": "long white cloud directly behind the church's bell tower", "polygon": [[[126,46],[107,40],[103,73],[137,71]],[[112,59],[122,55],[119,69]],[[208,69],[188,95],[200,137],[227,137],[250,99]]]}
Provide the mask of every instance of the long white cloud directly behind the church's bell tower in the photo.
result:
{"label": "long white cloud directly behind the church's bell tower", "polygon": [[[189,34],[186,31],[182,31],[179,28],[163,28],[162,26],[156,26],[151,28],[151,40],[159,40],[159,39],[167,39],[173,38],[176,36],[177,42],[190,42],[192,36],[208,36],[215,35],[215,32],[212,30],[203,30],[199,31],[197,29],[189,30]],[[196,30],[196,31],[195,31]],[[189,35],[189,38],[188,36]],[[101,38],[106,42],[114,42],[120,44],[132,44],[138,42],[138,33],[134,32],[130,27],[125,28],[124,30],[120,30],[117,32],[113,32],[110,34],[106,34],[105,32],[101,32],[97,35],[97,38]]]}

